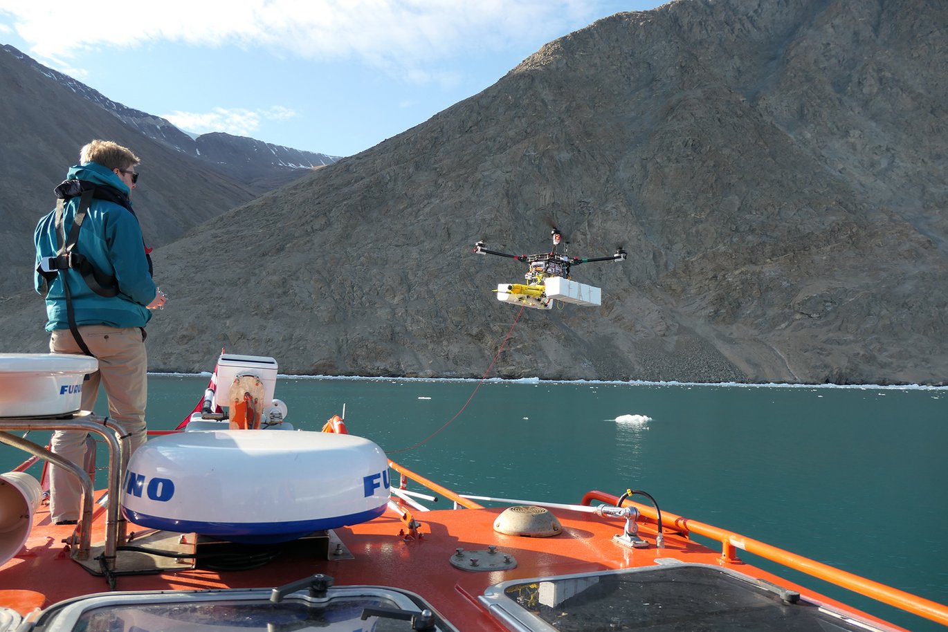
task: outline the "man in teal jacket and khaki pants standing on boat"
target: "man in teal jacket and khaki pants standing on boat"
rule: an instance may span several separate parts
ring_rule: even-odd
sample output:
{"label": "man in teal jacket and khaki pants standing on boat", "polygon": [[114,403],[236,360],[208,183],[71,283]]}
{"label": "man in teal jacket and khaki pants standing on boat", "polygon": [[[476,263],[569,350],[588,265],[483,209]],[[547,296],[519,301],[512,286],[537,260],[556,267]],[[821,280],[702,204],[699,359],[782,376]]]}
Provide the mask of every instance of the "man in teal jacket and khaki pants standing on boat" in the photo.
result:
{"label": "man in teal jacket and khaki pants standing on boat", "polygon": [[[80,164],[56,188],[57,207],[36,226],[36,291],[46,298],[49,351],[83,353],[99,370],[82,384],[82,409],[92,410],[100,382],[109,416],[134,452],[145,442],[145,325],[165,295],[152,280],[152,260],[129,196],[140,160],[115,142],[93,140]],[[57,430],[54,453],[82,465],[85,433]],[[56,524],[79,518],[79,481],[51,468],[49,515]]]}

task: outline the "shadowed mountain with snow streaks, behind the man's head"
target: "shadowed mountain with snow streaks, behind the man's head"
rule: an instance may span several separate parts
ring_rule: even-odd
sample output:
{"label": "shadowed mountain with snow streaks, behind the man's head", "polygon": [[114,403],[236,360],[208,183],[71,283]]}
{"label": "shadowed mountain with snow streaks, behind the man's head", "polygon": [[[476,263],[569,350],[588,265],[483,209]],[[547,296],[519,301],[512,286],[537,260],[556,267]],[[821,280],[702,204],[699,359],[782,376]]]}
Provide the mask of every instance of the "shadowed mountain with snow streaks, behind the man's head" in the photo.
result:
{"label": "shadowed mountain with snow streaks, behind the man's head", "polygon": [[0,186],[8,191],[0,197],[0,266],[7,271],[0,295],[31,287],[33,228],[92,138],[114,139],[142,158],[134,202],[152,246],[335,159],[239,136],[194,140],[9,45],[0,49],[0,84]]}

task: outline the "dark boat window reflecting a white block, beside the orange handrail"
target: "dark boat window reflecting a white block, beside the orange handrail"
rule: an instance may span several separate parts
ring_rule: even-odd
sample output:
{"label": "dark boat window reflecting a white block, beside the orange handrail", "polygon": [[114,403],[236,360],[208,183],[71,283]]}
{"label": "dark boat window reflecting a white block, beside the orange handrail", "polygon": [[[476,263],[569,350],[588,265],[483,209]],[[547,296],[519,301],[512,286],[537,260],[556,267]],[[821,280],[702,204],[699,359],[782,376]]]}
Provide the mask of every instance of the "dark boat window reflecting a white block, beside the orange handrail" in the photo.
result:
{"label": "dark boat window reflecting a white block, beside the orange handrail", "polygon": [[481,602],[522,632],[883,629],[729,569],[680,563],[504,582]]}

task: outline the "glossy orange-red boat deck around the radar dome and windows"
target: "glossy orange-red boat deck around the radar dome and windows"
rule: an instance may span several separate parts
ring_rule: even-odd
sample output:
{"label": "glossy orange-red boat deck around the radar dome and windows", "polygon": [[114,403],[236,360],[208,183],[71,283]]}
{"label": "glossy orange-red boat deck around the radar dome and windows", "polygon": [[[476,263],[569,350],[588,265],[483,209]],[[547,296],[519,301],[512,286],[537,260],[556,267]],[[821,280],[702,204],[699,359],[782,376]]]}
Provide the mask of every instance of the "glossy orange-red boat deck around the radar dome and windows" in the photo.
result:
{"label": "glossy orange-red boat deck around the radar dome and windows", "polygon": [[[101,497],[97,493],[96,497]],[[448,501],[449,502],[449,501]],[[656,525],[646,521],[639,535],[647,542],[647,548],[632,549],[613,541],[613,536],[622,532],[624,520],[595,515],[572,509],[555,508],[562,527],[561,533],[552,537],[524,537],[498,533],[494,522],[503,507],[483,509],[447,509],[439,511],[412,511],[420,522],[417,535],[406,535],[405,522],[392,508],[385,515],[369,522],[345,527],[331,533],[335,538],[313,538],[285,545],[277,552],[270,547],[246,549],[244,557],[228,557],[226,564],[233,567],[266,563],[254,569],[191,569],[174,560],[159,561],[171,569],[148,574],[121,574],[131,563],[140,564],[142,553],[118,551],[118,575],[114,577],[115,590],[205,590],[220,588],[272,588],[280,587],[314,574],[333,578],[335,587],[381,586],[408,590],[424,599],[434,613],[447,622],[446,629],[458,630],[506,630],[509,629],[497,616],[488,611],[481,596],[490,587],[513,580],[532,580],[562,575],[601,573],[620,569],[647,569],[667,567],[674,561],[686,564],[707,565],[712,569],[733,569],[753,578],[759,578],[781,588],[802,594],[801,603],[825,604],[848,612],[865,622],[876,624],[877,629],[894,628],[862,613],[854,613],[844,605],[814,594],[803,587],[794,586],[763,570],[741,563],[738,559],[724,560],[722,551],[708,549],[686,534],[672,533],[665,526],[664,547],[656,547]],[[101,543],[104,536],[105,511],[97,505],[92,541]],[[681,524],[681,523],[679,523]],[[64,540],[73,533],[72,526],[54,526],[48,519],[46,507],[35,515],[32,534],[23,551],[0,569],[0,606],[12,608],[27,615],[35,608],[45,608],[63,600],[96,592],[110,590],[106,577],[96,575],[82,564],[70,559]],[[674,524],[672,523],[674,529]],[[133,534],[131,545],[158,548],[155,533],[129,526]],[[165,542],[178,543],[180,535],[169,535]],[[183,536],[186,551],[193,542],[193,535]],[[221,545],[202,544],[198,556],[217,556],[215,549]],[[232,547],[232,545],[227,545]],[[496,547],[496,553],[488,547]],[[461,550],[460,553],[458,550]],[[93,556],[97,548],[94,546]],[[262,552],[263,551],[263,552]],[[512,569],[490,569],[484,560],[492,556],[508,555],[516,564]],[[272,556],[272,559],[270,559]],[[486,556],[486,557],[485,557]],[[152,557],[152,556],[145,556]],[[459,568],[469,566],[470,559],[478,560],[480,569]],[[136,559],[137,558],[137,559]],[[214,559],[221,559],[214,557]],[[454,564],[452,564],[452,559]],[[186,560],[190,561],[190,560]],[[211,564],[215,564],[213,560]],[[657,566],[658,565],[658,566]],[[95,564],[90,564],[95,567]],[[501,564],[501,566],[503,566]],[[674,581],[672,581],[674,583]],[[530,584],[536,587],[537,584]],[[767,584],[762,586],[767,587]],[[636,588],[642,593],[642,588]],[[502,591],[501,591],[502,592]],[[720,589],[702,587],[702,592],[714,598],[720,597]],[[779,626],[757,627],[757,629],[820,629],[788,627],[788,612],[799,606],[788,605],[780,598],[780,591],[763,590],[769,597],[762,601],[775,610]],[[669,593],[671,594],[671,593]],[[266,595],[264,595],[265,599]],[[654,597],[651,597],[654,601]],[[629,601],[629,600],[627,600]],[[634,601],[634,600],[633,600]],[[642,600],[640,600],[642,601]],[[670,597],[668,606],[674,601]],[[647,602],[647,600],[646,600]],[[645,605],[648,605],[646,602]],[[558,601],[555,605],[558,605]],[[759,604],[758,604],[759,605]],[[538,606],[535,604],[535,608]],[[611,607],[611,606],[610,606]],[[693,604],[685,609],[694,611]],[[716,609],[726,610],[726,608]],[[565,608],[565,605],[564,605]],[[736,606],[746,610],[745,606]],[[815,610],[817,608],[810,608]],[[577,611],[578,612],[578,611]],[[618,614],[618,613],[616,613]],[[720,614],[716,613],[716,614]],[[739,613],[738,613],[739,614]],[[559,615],[557,615],[559,616]],[[631,629],[623,623],[630,616],[622,613],[611,617],[611,628]],[[742,615],[741,615],[742,616]],[[568,619],[564,610],[562,617]],[[574,618],[575,619],[575,618]],[[565,623],[557,622],[557,623]],[[368,629],[368,628],[367,628]],[[405,628],[409,629],[409,628]],[[541,628],[538,628],[541,629]],[[550,629],[597,629],[597,627],[570,627],[557,624]],[[649,626],[649,629],[694,629],[687,626]],[[728,629],[707,627],[703,629]],[[833,629],[856,629],[840,626]]]}

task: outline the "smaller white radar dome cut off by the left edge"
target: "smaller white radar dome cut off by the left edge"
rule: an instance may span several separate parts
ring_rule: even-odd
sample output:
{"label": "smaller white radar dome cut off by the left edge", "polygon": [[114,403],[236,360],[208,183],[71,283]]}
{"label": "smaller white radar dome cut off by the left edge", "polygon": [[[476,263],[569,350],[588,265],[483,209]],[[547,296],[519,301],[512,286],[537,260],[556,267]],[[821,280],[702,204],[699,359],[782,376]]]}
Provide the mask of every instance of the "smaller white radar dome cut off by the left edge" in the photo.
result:
{"label": "smaller white radar dome cut off by the left edge", "polygon": [[0,353],[0,417],[60,417],[82,406],[99,360],[67,353]]}

